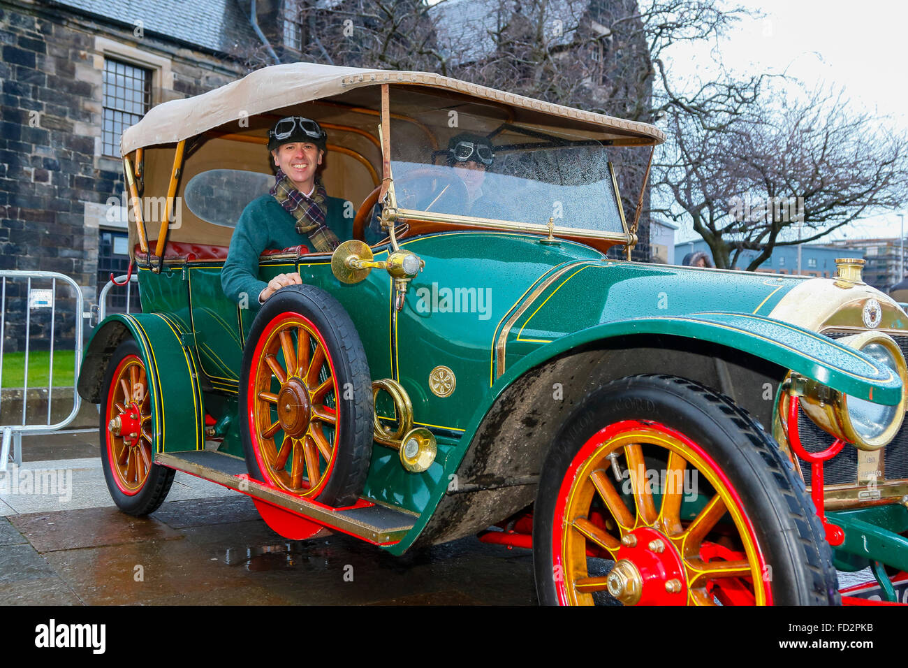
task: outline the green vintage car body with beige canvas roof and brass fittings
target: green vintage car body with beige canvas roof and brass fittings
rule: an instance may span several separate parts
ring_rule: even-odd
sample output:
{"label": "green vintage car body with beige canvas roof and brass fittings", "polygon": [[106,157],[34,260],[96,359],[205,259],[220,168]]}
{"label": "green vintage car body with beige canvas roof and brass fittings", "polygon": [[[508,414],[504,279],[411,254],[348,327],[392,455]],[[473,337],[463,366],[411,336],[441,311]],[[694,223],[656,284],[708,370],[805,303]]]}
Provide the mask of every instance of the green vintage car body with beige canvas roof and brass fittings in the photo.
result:
{"label": "green vintage car body with beige canvas roof and brass fittings", "polygon": [[[344,195],[351,201],[374,187],[360,214],[370,216],[378,202],[382,229],[389,234],[386,241],[360,244],[350,254],[348,244],[356,242],[341,244],[334,254],[275,249],[275,254],[262,254],[259,267],[262,280],[299,273],[303,284],[330,295],[350,316],[373,381],[375,439],[361,503],[339,509],[281,498],[291,495],[257,483],[252,466],[246,474],[250,453],[242,434],[255,422],[255,400],[249,406],[241,402],[252,386],[241,387],[244,373],[250,373],[243,368],[244,352],[248,359],[256,344],[253,323],[263,312],[256,295],[252,304],[236,304],[223,294],[221,273],[232,230],[199,213],[201,200],[192,205],[168,200],[168,207],[183,207],[188,223],[171,229],[163,216],[156,240],[141,212],[131,224],[143,313],[114,314],[98,324],[78,381],[84,399],[102,404],[102,448],[110,447],[110,434],[122,436],[121,422],[135,424],[132,409],[114,410],[110,380],[118,346],[132,340],[150,398],[148,415],[138,424],[142,430],[145,421],[149,424],[146,438],[154,464],[161,464],[156,468],[205,477],[191,455],[207,454],[206,441],[213,440],[217,453],[227,455],[230,470],[210,479],[250,494],[260,512],[265,509],[263,516],[273,513],[268,508],[280,507],[278,514],[289,512],[311,520],[312,526],[352,533],[400,554],[482,532],[538,503],[547,455],[558,445],[559,434],[573,428],[568,418],[590,394],[614,387],[616,381],[641,374],[689,380],[734,404],[735,410],[744,409],[746,420],[752,416],[754,429],[763,432],[758,437],[777,449],[773,456],[787,459],[792,470],[788,484],[800,485],[798,503],[804,507],[810,501],[802,481],[809,488],[812,474],[789,442],[786,406],[797,396],[802,406],[812,407],[816,424],[808,435],[821,443],[833,440],[829,434],[844,433],[845,427],[834,423],[847,414],[845,400],[851,398],[857,406],[862,401],[865,406],[894,406],[898,419],[891,421],[884,447],[845,444],[829,463],[831,477],[822,488],[825,501],[821,496],[819,503],[824,508],[818,514],[827,530],[834,523],[844,531],[832,561],[840,570],[857,571],[877,561],[904,569],[908,315],[864,284],[854,262],[844,262],[832,278],[812,278],[618,260],[607,249],[621,245],[630,256],[643,197],[634,221],[628,222],[610,158],[600,160],[600,174],[590,178],[587,173],[595,170],[589,155],[613,146],[656,145],[663,137],[656,128],[425,73],[396,73],[395,85],[389,73],[349,68],[281,65],[269,70],[249,78],[258,76],[260,85],[266,76],[284,81],[291,90],[281,88],[283,105],[300,105],[308,113],[319,111],[320,98],[327,98],[321,122],[330,120],[332,132],[345,140],[344,146],[329,145],[335,152],[331,160],[352,156],[344,163],[346,172],[334,173],[335,183],[347,188]],[[327,88],[301,84],[301,75],[320,75],[329,83]],[[227,112],[200,119],[192,101],[180,101],[168,103],[169,108],[162,105],[160,114],[153,110],[124,135],[124,169],[133,196],[141,184],[153,194],[192,199],[193,179],[222,170],[227,156],[245,170],[236,173],[240,180],[262,176],[263,154],[256,151],[262,153],[269,114],[281,105],[262,101],[260,89],[246,90],[245,82],[197,99],[201,104],[213,95],[212,100],[232,103],[245,95],[242,104],[233,106],[252,109],[252,126]],[[395,104],[400,111],[389,113]],[[444,155],[444,137],[457,129],[449,125],[446,105],[457,106],[465,118],[473,114],[496,137],[498,159],[513,172],[502,174],[496,184],[497,194],[512,204],[507,220],[475,212],[451,214],[440,204],[439,210],[431,210],[456,183],[436,163]],[[381,124],[377,134],[376,117]],[[237,132],[237,120],[248,129]],[[185,159],[184,148],[190,156]],[[558,178],[519,181],[520,169],[526,167],[521,152],[543,154],[531,166],[551,170]],[[350,178],[356,169],[365,186]],[[562,179],[562,173],[568,176]],[[264,180],[270,177],[266,174]],[[420,179],[432,181],[428,198],[414,195]],[[508,190],[515,183],[526,187]],[[453,190],[458,187],[463,189]],[[575,200],[555,202],[567,221],[558,225],[555,215],[548,217],[548,199],[562,195]],[[239,212],[230,214],[235,222]],[[168,249],[171,254],[165,254]],[[394,274],[395,262],[405,256],[419,260],[419,271]],[[344,272],[354,268],[360,273],[346,282],[351,274]],[[877,333],[894,351],[894,364],[862,352],[867,337]],[[850,338],[837,341],[844,336]],[[390,393],[376,390],[382,382],[400,387],[407,402],[399,405]],[[125,390],[128,397],[129,388]],[[404,406],[409,407],[401,412]],[[105,426],[112,416],[116,420]],[[422,470],[402,465],[402,441],[397,447],[383,443],[386,427],[393,431],[404,417],[433,443],[433,457]],[[734,468],[735,462],[726,465]],[[163,495],[159,497],[145,507],[160,505]],[[698,499],[689,510],[698,512],[703,502]],[[375,527],[360,531],[362,523],[351,515],[341,522],[341,511],[355,514],[360,505],[390,509],[406,522],[387,532]],[[880,586],[892,598],[892,583],[888,589],[886,583],[883,578]]]}

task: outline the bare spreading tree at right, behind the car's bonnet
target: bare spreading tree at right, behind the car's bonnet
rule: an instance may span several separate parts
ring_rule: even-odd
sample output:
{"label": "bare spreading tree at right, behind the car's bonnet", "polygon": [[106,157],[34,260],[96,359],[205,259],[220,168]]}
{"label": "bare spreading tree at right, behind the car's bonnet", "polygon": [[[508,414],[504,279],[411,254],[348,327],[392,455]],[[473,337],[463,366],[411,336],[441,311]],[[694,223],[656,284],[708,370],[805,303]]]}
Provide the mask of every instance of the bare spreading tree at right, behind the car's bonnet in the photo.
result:
{"label": "bare spreading tree at right, behind the car's bonnet", "polygon": [[816,241],[876,211],[900,207],[908,142],[878,119],[820,88],[792,97],[752,87],[725,111],[676,113],[657,187],[672,202],[654,210],[689,217],[731,268],[745,250],[754,270],[777,246]]}

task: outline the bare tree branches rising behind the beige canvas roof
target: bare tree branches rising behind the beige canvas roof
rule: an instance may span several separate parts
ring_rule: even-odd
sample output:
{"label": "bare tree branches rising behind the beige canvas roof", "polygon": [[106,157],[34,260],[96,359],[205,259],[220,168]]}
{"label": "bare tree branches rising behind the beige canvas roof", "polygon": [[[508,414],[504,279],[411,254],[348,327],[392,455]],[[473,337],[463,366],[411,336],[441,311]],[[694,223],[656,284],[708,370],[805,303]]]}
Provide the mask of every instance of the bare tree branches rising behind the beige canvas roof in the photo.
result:
{"label": "bare tree branches rising behind the beige canvas roof", "polygon": [[[643,122],[670,113],[705,124],[717,111],[751,101],[748,91],[762,80],[689,94],[673,88],[666,71],[673,46],[716,39],[755,15],[719,0],[284,2],[301,26],[301,60],[427,70]],[[646,155],[615,159],[626,210],[633,211]],[[635,256],[646,259],[646,209],[639,236]]]}

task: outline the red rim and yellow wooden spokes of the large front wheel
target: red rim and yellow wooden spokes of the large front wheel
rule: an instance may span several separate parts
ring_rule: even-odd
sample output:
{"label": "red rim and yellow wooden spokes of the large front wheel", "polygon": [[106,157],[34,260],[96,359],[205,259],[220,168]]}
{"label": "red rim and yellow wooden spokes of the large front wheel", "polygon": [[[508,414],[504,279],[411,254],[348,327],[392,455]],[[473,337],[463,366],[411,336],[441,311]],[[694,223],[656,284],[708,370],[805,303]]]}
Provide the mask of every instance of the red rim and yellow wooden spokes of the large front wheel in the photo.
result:
{"label": "red rim and yellow wooden spokes of the large front wheel", "polygon": [[[687,480],[706,494],[686,495]],[[664,424],[626,421],[590,437],[568,466],[554,519],[561,604],[594,603],[597,592],[625,604],[772,603],[740,496],[702,447]],[[615,566],[597,570],[605,559]]]}

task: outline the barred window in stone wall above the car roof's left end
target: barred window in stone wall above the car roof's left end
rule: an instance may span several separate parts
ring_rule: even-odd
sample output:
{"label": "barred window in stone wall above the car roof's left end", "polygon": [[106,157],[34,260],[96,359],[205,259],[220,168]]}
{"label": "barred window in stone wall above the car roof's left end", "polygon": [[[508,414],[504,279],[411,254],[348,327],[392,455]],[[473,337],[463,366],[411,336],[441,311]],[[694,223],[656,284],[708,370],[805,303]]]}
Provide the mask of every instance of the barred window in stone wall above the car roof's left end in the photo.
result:
{"label": "barred window in stone wall above the car roof's left end", "polygon": [[104,59],[102,153],[120,157],[120,136],[138,123],[152,105],[152,73],[143,67]]}

